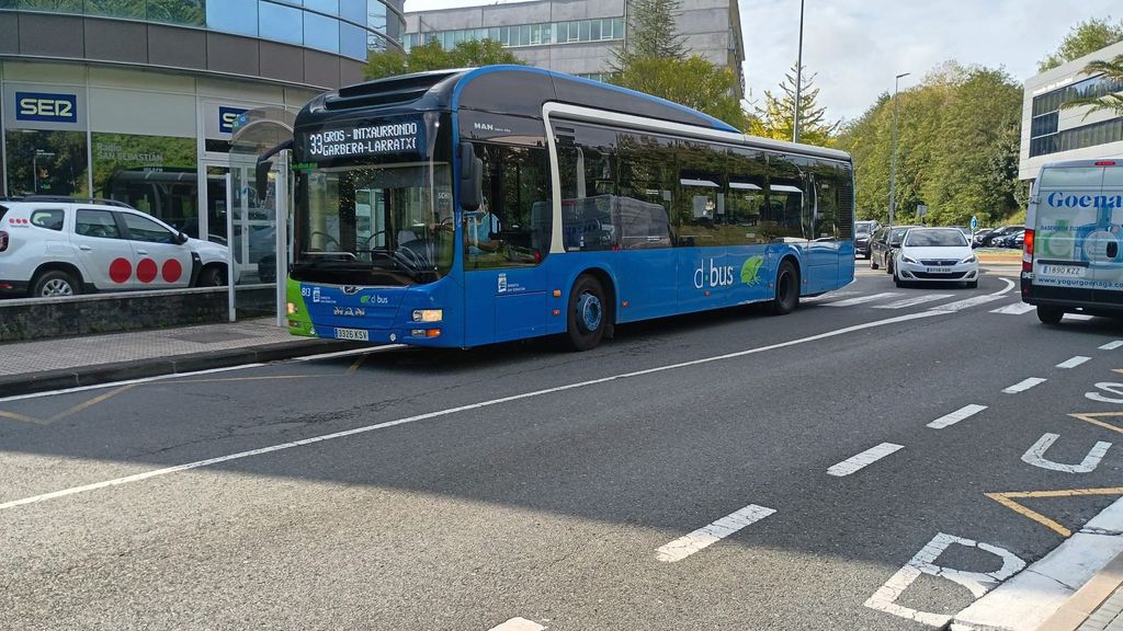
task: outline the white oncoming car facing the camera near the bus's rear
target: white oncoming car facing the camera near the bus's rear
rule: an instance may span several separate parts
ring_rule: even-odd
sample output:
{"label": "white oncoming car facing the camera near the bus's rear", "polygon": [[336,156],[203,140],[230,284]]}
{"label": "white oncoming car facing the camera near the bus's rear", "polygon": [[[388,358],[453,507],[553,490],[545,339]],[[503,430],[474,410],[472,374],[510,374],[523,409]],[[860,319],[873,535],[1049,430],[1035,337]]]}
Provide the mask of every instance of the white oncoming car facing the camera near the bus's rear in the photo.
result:
{"label": "white oncoming car facing the camera near the bus's rear", "polygon": [[907,283],[979,284],[979,259],[967,237],[956,228],[912,228],[901,240],[893,265],[893,281]]}

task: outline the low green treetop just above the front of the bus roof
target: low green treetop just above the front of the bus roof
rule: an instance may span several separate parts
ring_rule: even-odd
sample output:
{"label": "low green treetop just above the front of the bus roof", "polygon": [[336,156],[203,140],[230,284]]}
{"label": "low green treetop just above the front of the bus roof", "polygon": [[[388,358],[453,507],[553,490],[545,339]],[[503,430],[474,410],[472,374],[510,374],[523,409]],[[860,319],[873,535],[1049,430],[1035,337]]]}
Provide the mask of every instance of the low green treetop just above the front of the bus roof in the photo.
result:
{"label": "low green treetop just above the front of the bus roof", "polygon": [[400,51],[371,53],[363,68],[363,75],[366,79],[382,79],[412,72],[522,63],[493,39],[460,42],[451,51],[446,51],[440,42],[430,39],[420,46],[413,46],[409,53]]}

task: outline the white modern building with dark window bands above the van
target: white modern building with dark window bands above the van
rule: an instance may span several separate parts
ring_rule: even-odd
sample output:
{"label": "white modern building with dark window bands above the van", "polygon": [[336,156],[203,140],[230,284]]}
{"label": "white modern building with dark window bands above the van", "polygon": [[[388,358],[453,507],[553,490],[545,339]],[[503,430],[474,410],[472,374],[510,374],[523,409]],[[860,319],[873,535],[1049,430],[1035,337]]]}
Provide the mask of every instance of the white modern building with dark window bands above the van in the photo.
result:
{"label": "white modern building with dark window bands above the van", "polygon": [[1123,82],[1084,73],[1088,62],[1117,55],[1123,55],[1123,42],[1026,80],[1020,180],[1037,179],[1047,162],[1123,157],[1123,115],[1061,108],[1076,99],[1123,92]]}

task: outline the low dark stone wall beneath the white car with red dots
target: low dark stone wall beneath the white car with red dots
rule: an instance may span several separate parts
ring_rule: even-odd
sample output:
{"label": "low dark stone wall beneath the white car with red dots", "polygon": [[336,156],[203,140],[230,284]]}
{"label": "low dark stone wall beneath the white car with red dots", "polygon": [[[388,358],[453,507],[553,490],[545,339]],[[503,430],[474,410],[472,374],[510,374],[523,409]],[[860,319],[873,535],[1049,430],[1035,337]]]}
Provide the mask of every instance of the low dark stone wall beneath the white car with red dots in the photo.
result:
{"label": "low dark stone wall beneath the white car with red dots", "polygon": [[[276,313],[272,285],[237,292],[239,318]],[[227,309],[226,287],[4,300],[0,301],[0,341],[226,322]]]}

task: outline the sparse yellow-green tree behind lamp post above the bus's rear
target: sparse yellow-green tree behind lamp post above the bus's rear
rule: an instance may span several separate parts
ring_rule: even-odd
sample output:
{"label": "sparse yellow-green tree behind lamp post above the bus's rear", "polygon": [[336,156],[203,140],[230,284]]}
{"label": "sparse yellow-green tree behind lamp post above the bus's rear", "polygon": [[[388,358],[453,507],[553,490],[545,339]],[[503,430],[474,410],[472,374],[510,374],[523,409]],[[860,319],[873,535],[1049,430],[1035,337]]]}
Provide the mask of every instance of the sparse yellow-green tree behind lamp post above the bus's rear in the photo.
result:
{"label": "sparse yellow-green tree behind lamp post above the bus's rear", "polygon": [[[819,89],[814,88],[815,75],[803,73],[800,90],[800,141],[809,145],[829,145],[841,126],[841,121],[827,120],[827,108],[820,107]],[[795,65],[784,75],[779,84],[779,95],[765,90],[764,107],[756,108],[749,132],[775,140],[791,140],[795,125]]]}

